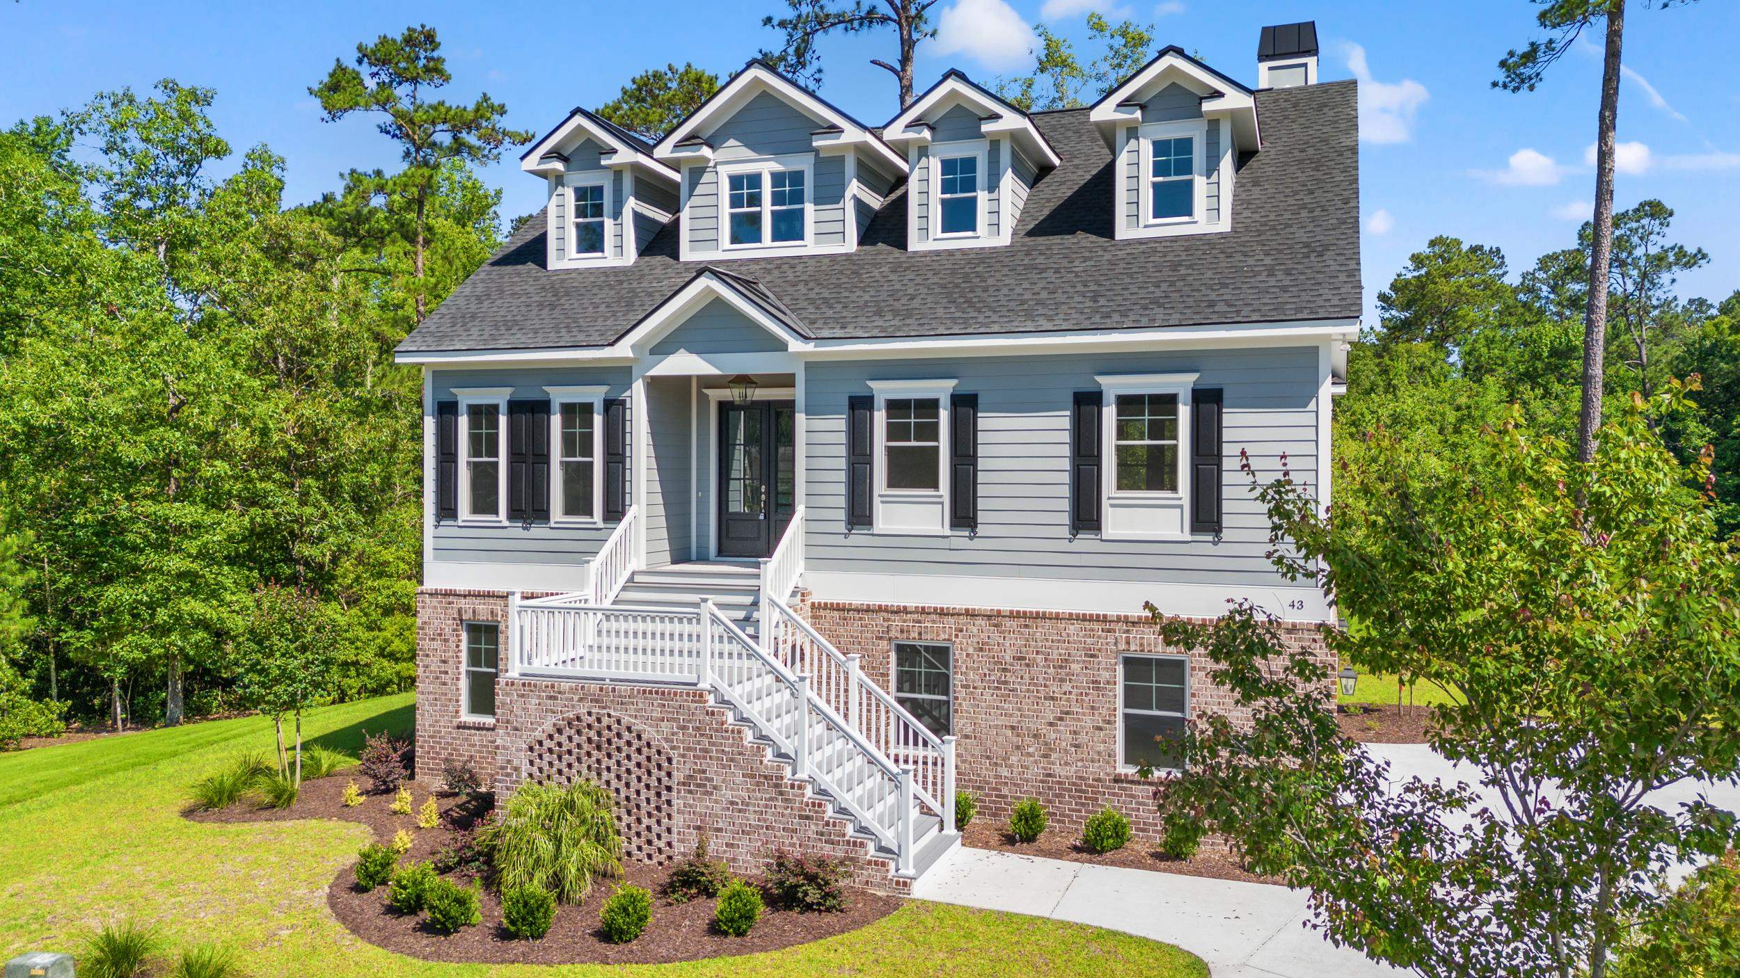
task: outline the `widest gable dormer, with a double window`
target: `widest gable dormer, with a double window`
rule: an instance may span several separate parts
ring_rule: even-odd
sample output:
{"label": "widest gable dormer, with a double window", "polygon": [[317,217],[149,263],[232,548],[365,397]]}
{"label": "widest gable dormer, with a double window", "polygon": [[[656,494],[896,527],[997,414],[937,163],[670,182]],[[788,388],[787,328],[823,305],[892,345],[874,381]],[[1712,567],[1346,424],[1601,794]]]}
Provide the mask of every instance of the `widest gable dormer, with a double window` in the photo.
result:
{"label": "widest gable dormer, with a double window", "polygon": [[684,261],[856,251],[905,169],[868,127],[764,61],[652,155],[680,172]]}

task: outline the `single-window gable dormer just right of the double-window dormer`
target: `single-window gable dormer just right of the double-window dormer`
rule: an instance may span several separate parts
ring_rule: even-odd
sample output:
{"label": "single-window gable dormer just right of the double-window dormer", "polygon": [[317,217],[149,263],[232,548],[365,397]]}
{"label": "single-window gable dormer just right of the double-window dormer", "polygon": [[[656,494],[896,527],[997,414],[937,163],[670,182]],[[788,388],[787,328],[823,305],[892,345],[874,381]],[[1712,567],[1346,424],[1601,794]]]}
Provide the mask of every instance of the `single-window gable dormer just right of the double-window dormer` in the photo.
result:
{"label": "single-window gable dormer just right of the double-window dormer", "polygon": [[1027,191],[1061,162],[1025,111],[950,70],[884,129],[907,155],[907,247],[1006,245]]}

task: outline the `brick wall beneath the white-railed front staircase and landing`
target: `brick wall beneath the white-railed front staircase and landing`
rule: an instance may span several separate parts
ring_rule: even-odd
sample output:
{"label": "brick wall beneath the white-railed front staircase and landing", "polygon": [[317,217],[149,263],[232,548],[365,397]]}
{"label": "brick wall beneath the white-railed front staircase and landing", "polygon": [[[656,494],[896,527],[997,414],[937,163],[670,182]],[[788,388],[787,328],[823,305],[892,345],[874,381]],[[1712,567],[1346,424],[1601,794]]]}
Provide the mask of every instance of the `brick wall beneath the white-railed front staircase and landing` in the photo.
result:
{"label": "brick wall beneath the white-railed front staircase and landing", "polygon": [[[786,767],[729,724],[698,689],[503,679],[498,686],[496,794],[550,771],[548,747],[576,726],[602,727],[562,776],[593,776],[618,788],[625,844],[632,853],[708,849],[736,874],[760,875],[774,847],[844,860],[853,882],[901,891],[886,860],[873,860],[849,823],[807,795]],[[614,740],[612,740],[614,738]],[[581,738],[583,740],[583,738]],[[665,766],[663,759],[670,759]],[[665,774],[670,774],[668,778]],[[668,792],[668,795],[661,795]],[[666,814],[668,813],[668,814]]]}

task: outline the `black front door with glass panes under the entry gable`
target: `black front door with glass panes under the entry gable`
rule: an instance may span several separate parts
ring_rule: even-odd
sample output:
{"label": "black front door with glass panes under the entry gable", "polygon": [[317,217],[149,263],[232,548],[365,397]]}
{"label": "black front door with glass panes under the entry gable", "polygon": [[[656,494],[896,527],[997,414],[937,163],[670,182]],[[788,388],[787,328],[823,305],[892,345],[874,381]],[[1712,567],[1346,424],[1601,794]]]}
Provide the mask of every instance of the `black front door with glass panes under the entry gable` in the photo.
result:
{"label": "black front door with glass panes under the entry gable", "polygon": [[790,400],[719,407],[719,557],[767,557],[792,522],[795,421]]}

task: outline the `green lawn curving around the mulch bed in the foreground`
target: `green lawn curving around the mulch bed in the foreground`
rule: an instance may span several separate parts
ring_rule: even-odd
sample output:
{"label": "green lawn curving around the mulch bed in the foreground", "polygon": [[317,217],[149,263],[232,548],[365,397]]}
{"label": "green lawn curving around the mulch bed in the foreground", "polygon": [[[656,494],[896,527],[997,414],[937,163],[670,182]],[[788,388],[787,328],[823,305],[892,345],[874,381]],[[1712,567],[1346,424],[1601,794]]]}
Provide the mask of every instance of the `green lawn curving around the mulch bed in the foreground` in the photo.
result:
{"label": "green lawn curving around the mulch bed in the foreground", "polygon": [[[409,731],[412,698],[318,710],[308,736],[355,754],[362,727]],[[75,950],[106,921],[158,924],[174,954],[221,943],[252,978],[539,976],[785,978],[839,975],[1091,975],[1206,978],[1194,955],[1143,938],[908,903],[860,931],[750,957],[646,968],[433,964],[390,954],[332,919],[325,888],[369,841],[360,825],[211,825],[181,818],[188,792],[237,754],[271,750],[261,717],[0,755],[0,961]],[[654,924],[658,926],[656,914]]]}

